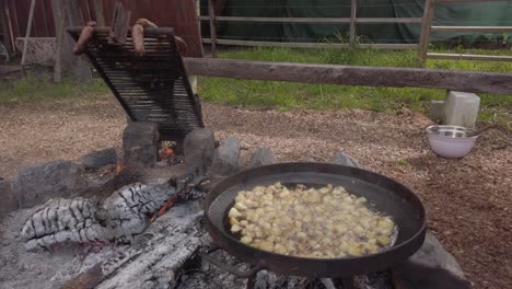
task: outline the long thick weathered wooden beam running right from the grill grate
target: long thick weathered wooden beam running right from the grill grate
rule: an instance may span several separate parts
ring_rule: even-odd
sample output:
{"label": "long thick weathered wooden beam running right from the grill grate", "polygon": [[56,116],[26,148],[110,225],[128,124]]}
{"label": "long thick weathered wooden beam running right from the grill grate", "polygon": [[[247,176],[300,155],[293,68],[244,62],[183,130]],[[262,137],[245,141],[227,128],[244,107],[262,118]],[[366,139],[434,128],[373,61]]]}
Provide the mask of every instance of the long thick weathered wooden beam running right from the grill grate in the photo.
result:
{"label": "long thick weathered wooden beam running right from the grill grate", "polygon": [[357,67],[185,58],[191,74],[383,88],[512,94],[512,74],[419,68]]}

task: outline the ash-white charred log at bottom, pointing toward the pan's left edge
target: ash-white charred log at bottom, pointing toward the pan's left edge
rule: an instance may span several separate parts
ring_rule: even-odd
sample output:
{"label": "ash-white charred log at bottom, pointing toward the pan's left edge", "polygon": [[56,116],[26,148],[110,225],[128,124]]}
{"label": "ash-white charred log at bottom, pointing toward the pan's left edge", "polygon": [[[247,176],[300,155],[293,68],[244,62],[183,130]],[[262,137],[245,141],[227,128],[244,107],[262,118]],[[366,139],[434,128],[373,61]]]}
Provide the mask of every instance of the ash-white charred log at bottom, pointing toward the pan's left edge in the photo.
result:
{"label": "ash-white charred log at bottom, pointing toward the pan's left edge", "polygon": [[201,246],[201,217],[199,212],[159,222],[155,231],[168,234],[153,238],[140,248],[120,253],[115,259],[96,264],[60,289],[160,288],[156,285],[175,284],[184,264],[193,259]]}

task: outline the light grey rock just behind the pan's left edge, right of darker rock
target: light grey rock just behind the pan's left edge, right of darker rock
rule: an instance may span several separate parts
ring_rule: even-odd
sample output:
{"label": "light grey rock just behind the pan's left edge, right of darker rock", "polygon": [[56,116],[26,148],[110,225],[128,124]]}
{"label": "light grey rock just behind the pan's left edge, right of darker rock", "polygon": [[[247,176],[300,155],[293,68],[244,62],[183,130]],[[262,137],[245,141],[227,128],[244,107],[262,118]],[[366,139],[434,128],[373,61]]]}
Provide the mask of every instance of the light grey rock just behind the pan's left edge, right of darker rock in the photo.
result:
{"label": "light grey rock just behind the pan's left edge, right of darker rock", "polygon": [[217,175],[230,175],[238,170],[241,142],[229,137],[225,138],[213,154],[210,171]]}

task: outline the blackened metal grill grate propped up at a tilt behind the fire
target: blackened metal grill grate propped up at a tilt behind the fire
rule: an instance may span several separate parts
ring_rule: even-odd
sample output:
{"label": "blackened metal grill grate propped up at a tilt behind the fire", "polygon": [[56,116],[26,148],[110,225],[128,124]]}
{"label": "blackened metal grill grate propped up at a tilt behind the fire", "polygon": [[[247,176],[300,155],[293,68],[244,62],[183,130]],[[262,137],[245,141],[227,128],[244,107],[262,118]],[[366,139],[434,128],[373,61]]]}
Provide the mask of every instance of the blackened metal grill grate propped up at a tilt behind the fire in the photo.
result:
{"label": "blackened metal grill grate propped up at a tilt behind the fire", "polygon": [[[81,28],[68,28],[74,41]],[[144,56],[133,50],[131,37],[124,45],[108,44],[108,31],[95,30],[85,55],[131,120],[156,123],[161,140],[182,141],[203,127],[199,96],[191,91],[172,30],[144,35]]]}

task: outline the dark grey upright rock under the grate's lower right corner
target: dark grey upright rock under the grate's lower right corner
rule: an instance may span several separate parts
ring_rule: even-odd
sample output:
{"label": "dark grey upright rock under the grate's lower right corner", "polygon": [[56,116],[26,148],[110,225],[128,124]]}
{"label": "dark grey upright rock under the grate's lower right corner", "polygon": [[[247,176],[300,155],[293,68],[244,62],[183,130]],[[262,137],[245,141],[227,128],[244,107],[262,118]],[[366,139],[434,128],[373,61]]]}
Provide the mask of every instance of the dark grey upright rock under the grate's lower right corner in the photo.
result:
{"label": "dark grey upright rock under the grate's lower right corner", "polygon": [[183,141],[185,162],[195,165],[199,174],[205,174],[213,162],[216,138],[209,128],[196,128]]}

